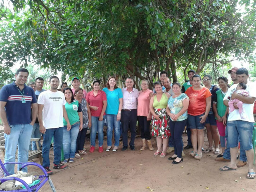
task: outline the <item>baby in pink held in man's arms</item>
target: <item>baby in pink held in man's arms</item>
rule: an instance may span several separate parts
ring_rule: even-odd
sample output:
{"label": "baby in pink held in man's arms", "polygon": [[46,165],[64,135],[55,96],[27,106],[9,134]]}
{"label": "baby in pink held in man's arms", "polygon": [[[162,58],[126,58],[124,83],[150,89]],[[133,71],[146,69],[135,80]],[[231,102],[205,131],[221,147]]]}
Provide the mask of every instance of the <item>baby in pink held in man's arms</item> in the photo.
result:
{"label": "baby in pink held in man's arms", "polygon": [[[249,93],[245,90],[246,88],[247,88],[247,86],[245,83],[238,83],[237,88],[236,88],[237,94],[248,97]],[[241,115],[241,118],[244,119],[244,116],[242,114],[244,103],[238,99],[233,99],[228,102],[228,105],[230,107],[230,113],[235,110],[235,107],[233,105],[235,102],[237,102],[237,107],[239,109],[239,114]]]}

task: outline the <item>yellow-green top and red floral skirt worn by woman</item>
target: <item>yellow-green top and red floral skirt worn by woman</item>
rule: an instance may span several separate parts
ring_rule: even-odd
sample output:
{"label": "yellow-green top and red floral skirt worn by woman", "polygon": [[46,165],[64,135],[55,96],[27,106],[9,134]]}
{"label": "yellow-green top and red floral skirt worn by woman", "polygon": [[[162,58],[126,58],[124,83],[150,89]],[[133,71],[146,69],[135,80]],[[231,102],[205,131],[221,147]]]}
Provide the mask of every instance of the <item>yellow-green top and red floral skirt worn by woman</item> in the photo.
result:
{"label": "yellow-green top and red floral skirt worn by woman", "polygon": [[171,136],[169,128],[169,116],[166,113],[168,97],[163,93],[161,100],[158,102],[156,95],[154,96],[153,107],[155,108],[156,115],[159,115],[161,120],[157,120],[152,116],[152,136],[161,137],[162,139],[168,138]]}

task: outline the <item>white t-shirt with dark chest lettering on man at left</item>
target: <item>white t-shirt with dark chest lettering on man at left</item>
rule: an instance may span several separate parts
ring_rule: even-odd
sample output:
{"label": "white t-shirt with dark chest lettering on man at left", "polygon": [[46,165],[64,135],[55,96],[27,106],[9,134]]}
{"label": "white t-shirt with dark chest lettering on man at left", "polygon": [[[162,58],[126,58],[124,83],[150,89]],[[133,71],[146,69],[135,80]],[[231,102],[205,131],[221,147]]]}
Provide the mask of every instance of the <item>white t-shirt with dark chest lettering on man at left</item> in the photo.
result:
{"label": "white t-shirt with dark chest lettering on man at left", "polygon": [[46,129],[63,127],[63,108],[66,104],[64,93],[50,90],[41,92],[38,104],[43,104],[43,126]]}

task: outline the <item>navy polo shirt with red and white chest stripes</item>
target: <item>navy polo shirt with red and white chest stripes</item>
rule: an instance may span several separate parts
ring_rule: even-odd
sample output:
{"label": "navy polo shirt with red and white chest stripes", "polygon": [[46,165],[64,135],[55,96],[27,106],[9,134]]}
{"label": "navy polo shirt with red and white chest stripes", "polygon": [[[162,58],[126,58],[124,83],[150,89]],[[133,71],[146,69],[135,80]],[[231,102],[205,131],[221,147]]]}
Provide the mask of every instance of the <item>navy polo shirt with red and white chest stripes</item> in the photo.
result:
{"label": "navy polo shirt with red and white chest stripes", "polygon": [[[25,102],[22,102],[22,95]],[[5,112],[9,125],[29,124],[31,122],[31,104],[36,103],[36,95],[31,87],[24,85],[23,90],[13,82],[0,90],[0,102],[6,102]]]}

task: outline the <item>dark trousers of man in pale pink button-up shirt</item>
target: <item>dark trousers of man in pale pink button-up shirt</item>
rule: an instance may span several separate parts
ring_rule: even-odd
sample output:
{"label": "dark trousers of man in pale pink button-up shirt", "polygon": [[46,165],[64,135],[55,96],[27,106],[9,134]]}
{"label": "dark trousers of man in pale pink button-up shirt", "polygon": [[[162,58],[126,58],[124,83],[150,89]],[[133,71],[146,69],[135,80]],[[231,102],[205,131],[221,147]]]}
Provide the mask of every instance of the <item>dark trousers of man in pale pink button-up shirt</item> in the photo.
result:
{"label": "dark trousers of man in pale pink button-up shirt", "polygon": [[137,109],[131,111],[121,111],[121,123],[123,128],[123,146],[128,147],[128,128],[130,128],[130,146],[134,145],[134,140],[136,137],[136,123],[137,123]]}

